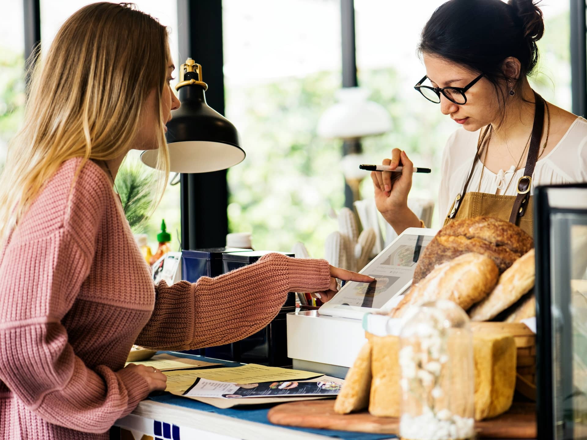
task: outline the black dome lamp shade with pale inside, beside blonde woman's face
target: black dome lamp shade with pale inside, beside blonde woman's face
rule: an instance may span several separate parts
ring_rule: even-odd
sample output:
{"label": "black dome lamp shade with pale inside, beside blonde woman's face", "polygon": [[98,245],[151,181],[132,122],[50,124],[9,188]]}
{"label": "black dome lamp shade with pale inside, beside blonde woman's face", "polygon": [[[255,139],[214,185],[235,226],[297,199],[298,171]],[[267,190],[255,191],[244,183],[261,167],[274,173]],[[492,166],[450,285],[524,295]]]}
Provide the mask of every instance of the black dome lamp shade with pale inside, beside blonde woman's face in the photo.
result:
{"label": "black dome lamp shade with pale inside, beside blonde woman's face", "polygon": [[[181,106],[167,123],[170,171],[211,172],[241,163],[245,152],[237,128],[206,103],[203,83],[181,86]],[[181,85],[181,84],[180,84]],[[141,154],[141,161],[155,167],[157,150]]]}

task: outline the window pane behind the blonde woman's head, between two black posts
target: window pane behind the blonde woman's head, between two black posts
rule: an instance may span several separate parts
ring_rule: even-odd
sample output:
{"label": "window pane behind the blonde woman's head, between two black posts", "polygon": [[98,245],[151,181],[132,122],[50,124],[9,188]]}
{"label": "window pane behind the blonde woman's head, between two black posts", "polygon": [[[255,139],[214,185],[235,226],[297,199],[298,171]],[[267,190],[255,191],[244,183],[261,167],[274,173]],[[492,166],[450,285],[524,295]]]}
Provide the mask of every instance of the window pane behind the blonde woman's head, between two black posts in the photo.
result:
{"label": "window pane behind the blonde woman's head, between two black posts", "polygon": [[[59,27],[65,20],[72,15],[77,9],[91,4],[89,0],[70,0],[68,2],[55,2],[50,0],[41,0],[41,46],[43,53],[49,48],[50,43]],[[160,0],[136,0],[133,2],[137,9],[147,12],[157,18],[161,24],[168,26],[170,31],[169,44],[171,55],[176,66],[179,66],[185,60],[178,59],[178,35],[177,35],[177,2],[162,2]],[[145,75],[149,75],[149,69],[145,69]],[[173,74],[176,80],[172,85],[178,82],[177,69]],[[139,160],[140,151],[131,150],[123,163],[121,172],[117,176],[117,182],[122,178],[123,172],[129,172],[129,168],[139,169],[148,174],[150,168],[142,165]],[[173,176],[171,176],[173,177]],[[119,182],[120,185],[120,182]],[[168,186],[165,191],[163,201],[157,210],[151,215],[149,221],[145,224],[133,228],[134,232],[144,232],[149,236],[151,248],[157,246],[157,233],[161,226],[161,219],[165,219],[167,231],[171,233],[172,248],[179,249],[181,238],[181,214],[180,214],[180,185]]]}

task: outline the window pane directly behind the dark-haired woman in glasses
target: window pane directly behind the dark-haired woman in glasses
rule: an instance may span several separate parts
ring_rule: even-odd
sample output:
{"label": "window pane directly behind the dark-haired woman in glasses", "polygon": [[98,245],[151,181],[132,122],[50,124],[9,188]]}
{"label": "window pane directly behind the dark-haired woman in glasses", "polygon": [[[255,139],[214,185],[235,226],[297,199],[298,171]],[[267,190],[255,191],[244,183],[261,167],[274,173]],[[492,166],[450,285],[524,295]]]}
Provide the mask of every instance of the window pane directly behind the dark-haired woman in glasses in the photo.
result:
{"label": "window pane directly behind the dark-haired woman in glasses", "polygon": [[[438,106],[421,97],[413,86],[424,75],[416,54],[420,32],[443,0],[410,2],[355,0],[356,56],[359,84],[372,90],[372,99],[392,115],[392,130],[384,136],[364,138],[367,155],[382,160],[392,148],[402,148],[414,164],[431,167],[432,174],[414,175],[410,197],[437,201],[441,155],[456,124],[440,113]],[[571,66],[569,53],[569,4],[541,4],[545,35],[539,41],[541,63],[531,83],[542,96],[571,111]],[[417,12],[417,13],[416,13]],[[364,198],[373,197],[370,181],[363,182]],[[433,215],[433,227],[437,224]]]}

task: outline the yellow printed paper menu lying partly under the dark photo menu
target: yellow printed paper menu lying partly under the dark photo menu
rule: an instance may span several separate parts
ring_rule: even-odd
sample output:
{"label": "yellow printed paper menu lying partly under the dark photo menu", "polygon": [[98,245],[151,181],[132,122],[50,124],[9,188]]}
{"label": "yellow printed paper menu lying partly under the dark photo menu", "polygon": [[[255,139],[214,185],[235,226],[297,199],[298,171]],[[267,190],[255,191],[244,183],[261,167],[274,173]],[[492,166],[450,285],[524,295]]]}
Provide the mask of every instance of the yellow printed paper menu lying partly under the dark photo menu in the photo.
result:
{"label": "yellow printed paper menu lying partly under the dark photo menu", "polygon": [[266,367],[265,365],[248,364],[242,367],[207,368],[191,371],[164,371],[167,376],[165,391],[181,394],[191,387],[198,378],[236,384],[254,384],[259,382],[309,379],[320,374],[310,371],[289,370],[288,368]]}

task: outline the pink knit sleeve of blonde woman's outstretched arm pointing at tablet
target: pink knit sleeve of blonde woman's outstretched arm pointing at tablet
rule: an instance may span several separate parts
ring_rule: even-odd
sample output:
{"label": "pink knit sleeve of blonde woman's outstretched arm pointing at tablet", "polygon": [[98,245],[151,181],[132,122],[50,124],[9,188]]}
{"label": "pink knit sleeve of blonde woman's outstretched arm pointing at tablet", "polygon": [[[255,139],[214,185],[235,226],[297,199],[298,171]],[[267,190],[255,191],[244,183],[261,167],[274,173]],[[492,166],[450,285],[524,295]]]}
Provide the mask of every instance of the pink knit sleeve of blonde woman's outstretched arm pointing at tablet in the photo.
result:
{"label": "pink knit sleeve of blonde woman's outstretched arm pointing at tablet", "polygon": [[265,255],[255,264],[196,283],[160,282],[155,309],[137,344],[190,350],[241,340],[265,327],[290,291],[328,289],[326,260]]}

